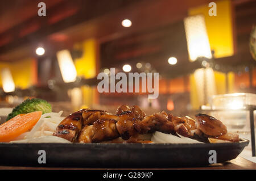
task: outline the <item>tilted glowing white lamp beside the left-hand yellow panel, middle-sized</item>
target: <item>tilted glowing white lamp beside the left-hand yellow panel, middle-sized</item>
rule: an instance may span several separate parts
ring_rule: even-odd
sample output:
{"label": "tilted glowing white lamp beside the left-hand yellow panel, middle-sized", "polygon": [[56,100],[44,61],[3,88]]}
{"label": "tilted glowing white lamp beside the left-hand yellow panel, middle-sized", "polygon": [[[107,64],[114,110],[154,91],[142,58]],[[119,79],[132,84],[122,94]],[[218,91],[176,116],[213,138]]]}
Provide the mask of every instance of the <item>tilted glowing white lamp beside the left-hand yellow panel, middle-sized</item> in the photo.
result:
{"label": "tilted glowing white lamp beside the left-hand yellow panel, middle-sized", "polygon": [[63,81],[66,83],[76,81],[77,72],[69,50],[57,52],[57,60]]}

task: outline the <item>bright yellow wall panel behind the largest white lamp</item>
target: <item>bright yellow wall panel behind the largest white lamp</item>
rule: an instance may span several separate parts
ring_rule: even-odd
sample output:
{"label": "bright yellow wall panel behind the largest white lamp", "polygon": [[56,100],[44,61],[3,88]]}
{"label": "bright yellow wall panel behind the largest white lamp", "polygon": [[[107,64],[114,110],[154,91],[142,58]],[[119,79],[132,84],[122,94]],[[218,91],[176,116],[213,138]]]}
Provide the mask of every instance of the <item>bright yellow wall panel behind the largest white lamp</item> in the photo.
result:
{"label": "bright yellow wall panel behind the largest white lamp", "polygon": [[204,15],[205,26],[209,38],[210,49],[214,50],[214,58],[233,56],[234,48],[234,14],[232,0],[212,1],[216,3],[217,16],[209,16],[212,10],[208,3],[188,9],[188,15]]}

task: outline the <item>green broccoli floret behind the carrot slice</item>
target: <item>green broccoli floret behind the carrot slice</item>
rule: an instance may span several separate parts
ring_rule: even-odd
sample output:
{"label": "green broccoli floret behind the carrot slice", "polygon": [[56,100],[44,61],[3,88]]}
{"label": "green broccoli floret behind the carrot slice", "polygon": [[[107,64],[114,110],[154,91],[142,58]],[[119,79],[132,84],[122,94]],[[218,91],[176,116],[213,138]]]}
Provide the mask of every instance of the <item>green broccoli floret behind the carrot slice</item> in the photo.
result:
{"label": "green broccoli floret behind the carrot slice", "polygon": [[11,113],[9,113],[6,121],[21,113],[30,113],[34,111],[42,111],[43,114],[52,112],[52,106],[43,99],[26,99],[24,102],[16,106]]}

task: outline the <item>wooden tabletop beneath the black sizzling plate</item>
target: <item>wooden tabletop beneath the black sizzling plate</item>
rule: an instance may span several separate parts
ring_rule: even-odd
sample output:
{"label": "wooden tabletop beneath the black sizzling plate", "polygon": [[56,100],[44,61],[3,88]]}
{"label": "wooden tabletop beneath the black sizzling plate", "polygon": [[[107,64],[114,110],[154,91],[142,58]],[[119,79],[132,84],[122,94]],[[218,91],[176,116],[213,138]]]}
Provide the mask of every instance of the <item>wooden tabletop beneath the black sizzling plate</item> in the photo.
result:
{"label": "wooden tabletop beneath the black sizzling plate", "polygon": [[[16,166],[0,166],[0,170],[90,170],[93,168],[61,168],[61,167],[16,167]],[[103,168],[102,168],[103,169]],[[248,161],[242,157],[237,157],[232,161],[225,163],[217,163],[208,167],[185,167],[185,168],[154,168],[152,170],[180,170],[180,169],[192,169],[192,170],[256,170],[256,163]],[[94,170],[94,169],[93,169]],[[101,170],[98,169],[97,170]],[[108,169],[112,170],[112,169]],[[113,169],[115,170],[115,169]],[[125,169],[132,170],[132,169]],[[137,170],[137,169],[136,169]],[[150,170],[150,168],[147,170]]]}

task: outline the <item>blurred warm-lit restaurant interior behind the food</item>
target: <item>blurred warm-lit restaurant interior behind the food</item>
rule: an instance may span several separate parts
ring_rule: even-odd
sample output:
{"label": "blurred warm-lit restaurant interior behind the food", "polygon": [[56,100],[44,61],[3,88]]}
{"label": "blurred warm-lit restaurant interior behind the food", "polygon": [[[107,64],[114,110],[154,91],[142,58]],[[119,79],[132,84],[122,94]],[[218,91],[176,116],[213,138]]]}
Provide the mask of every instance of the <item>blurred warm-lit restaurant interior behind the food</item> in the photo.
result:
{"label": "blurred warm-lit restaurant interior behind the food", "polygon": [[[254,0],[44,0],[46,16],[38,15],[39,2],[0,1],[1,108],[42,98],[64,115],[137,104],[148,114],[193,116],[216,105],[239,110],[256,103]],[[110,68],[159,73],[158,99],[99,93],[97,75]],[[214,102],[226,94],[231,101]],[[249,129],[248,121],[244,113],[230,124]]]}

